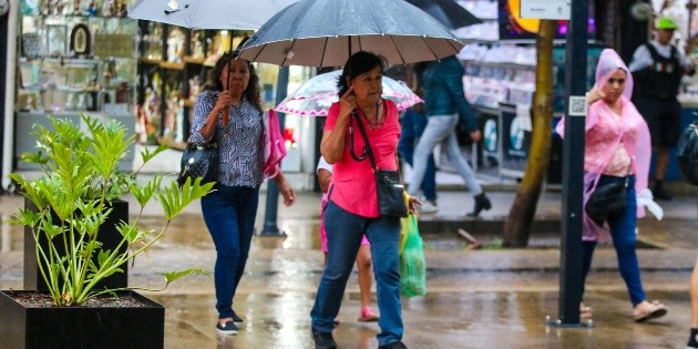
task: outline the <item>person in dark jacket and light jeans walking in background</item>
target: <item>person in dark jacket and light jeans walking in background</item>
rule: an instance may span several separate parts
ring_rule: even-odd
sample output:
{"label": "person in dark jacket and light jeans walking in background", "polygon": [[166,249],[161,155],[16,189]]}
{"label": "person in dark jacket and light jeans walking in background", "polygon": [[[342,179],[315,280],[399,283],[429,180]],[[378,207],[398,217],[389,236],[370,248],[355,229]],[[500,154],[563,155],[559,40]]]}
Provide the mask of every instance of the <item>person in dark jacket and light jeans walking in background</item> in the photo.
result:
{"label": "person in dark jacket and light jeans walking in background", "polygon": [[427,64],[425,68],[418,69],[418,74],[429,120],[414,148],[414,168],[408,194],[410,196],[418,194],[429,156],[438,144],[443,144],[445,146],[443,151],[475,197],[475,207],[468,216],[476,217],[481,211],[492,208],[492,203],[463,157],[455,137],[455,126],[459,122],[465,124],[473,142],[480,141],[482,136],[463,92],[464,70],[455,55]]}

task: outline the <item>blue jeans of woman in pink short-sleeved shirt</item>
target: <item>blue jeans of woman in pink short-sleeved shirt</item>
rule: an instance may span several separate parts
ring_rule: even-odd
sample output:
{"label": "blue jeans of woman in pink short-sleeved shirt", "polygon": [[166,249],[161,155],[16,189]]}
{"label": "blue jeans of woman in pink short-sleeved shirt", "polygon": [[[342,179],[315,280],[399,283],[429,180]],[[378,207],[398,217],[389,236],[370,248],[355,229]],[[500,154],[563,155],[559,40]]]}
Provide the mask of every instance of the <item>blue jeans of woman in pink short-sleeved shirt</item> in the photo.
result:
{"label": "blue jeans of woman in pink short-sleeved shirt", "polygon": [[388,345],[402,339],[400,304],[400,218],[366,218],[337,206],[331,198],[325,208],[328,259],[318,286],[315,306],[310,311],[311,326],[330,332],[345,296],[347,279],[353,268],[361,237],[371,243],[376,294],[380,310],[378,343]]}

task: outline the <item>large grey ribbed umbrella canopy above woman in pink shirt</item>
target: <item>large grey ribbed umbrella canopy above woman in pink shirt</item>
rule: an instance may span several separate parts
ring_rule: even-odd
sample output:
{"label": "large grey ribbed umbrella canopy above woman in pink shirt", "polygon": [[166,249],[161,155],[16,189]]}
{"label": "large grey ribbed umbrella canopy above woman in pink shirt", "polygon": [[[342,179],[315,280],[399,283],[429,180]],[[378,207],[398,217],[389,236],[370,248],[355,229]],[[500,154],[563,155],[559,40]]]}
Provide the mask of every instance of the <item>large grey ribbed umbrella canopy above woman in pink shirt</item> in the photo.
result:
{"label": "large grey ribbed umbrella canopy above woman in pink shirt", "polygon": [[404,0],[301,0],[276,13],[240,57],[278,65],[341,66],[358,51],[389,64],[432,61],[463,44],[433,17]]}

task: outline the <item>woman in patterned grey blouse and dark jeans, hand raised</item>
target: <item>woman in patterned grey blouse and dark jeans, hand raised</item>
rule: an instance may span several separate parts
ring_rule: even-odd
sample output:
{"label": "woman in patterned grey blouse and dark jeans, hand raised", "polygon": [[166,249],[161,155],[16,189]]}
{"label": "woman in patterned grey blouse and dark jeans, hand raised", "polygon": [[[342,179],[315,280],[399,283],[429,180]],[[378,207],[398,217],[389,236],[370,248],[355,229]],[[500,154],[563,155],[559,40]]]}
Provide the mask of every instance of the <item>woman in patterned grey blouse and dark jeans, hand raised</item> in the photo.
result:
{"label": "woman in patterned grey blouse and dark jeans, hand raised", "polygon": [[[223,54],[194,104],[189,140],[196,145],[215,142],[219,151],[218,182],[202,198],[202,212],[216,246],[216,329],[222,335],[236,335],[243,322],[233,298],[245,273],[264,179],[263,117],[254,65],[237,52]],[[296,197],[284,174],[274,181],[284,204],[292,205]]]}

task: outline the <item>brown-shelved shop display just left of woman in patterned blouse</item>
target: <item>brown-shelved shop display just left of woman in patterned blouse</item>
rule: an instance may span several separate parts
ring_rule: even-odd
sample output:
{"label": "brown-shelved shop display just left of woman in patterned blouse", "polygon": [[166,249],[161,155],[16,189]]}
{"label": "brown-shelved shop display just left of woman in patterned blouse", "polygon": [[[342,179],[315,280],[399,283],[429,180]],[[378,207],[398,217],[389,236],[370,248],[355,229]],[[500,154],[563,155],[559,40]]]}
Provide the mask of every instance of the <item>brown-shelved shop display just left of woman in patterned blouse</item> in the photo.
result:
{"label": "brown-shelved shop display just left of woman in patterned blouse", "polygon": [[140,21],[137,138],[183,148],[192,107],[218,58],[250,31],[189,30]]}

